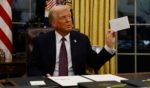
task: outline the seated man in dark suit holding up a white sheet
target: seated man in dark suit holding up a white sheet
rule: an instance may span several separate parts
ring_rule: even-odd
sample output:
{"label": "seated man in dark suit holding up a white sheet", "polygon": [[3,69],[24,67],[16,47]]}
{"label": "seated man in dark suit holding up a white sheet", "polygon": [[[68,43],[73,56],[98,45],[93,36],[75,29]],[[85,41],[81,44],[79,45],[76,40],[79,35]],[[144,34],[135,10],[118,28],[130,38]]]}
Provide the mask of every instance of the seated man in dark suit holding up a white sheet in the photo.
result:
{"label": "seated man in dark suit holding up a white sheet", "polygon": [[[28,59],[28,75],[41,76],[49,74],[59,76],[59,53],[61,38],[66,39],[67,75],[86,74],[86,66],[99,69],[114,55],[115,32],[109,30],[106,45],[100,53],[92,50],[88,37],[73,30],[69,6],[58,5],[51,9],[49,21],[55,29],[39,36],[34,44],[31,58]],[[61,67],[65,67],[64,64]]]}

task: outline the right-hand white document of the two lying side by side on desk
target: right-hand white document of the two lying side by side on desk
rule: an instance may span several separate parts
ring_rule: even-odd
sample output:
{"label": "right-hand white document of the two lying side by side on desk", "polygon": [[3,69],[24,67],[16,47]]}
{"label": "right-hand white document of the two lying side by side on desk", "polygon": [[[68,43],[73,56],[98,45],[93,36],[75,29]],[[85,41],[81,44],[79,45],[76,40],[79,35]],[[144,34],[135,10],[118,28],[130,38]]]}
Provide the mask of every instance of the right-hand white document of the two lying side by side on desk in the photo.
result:
{"label": "right-hand white document of the two lying side by side on desk", "polygon": [[117,81],[121,82],[121,80],[127,80],[126,78],[119,77],[116,75],[111,74],[104,74],[104,75],[83,75],[86,78],[92,79],[94,81]]}

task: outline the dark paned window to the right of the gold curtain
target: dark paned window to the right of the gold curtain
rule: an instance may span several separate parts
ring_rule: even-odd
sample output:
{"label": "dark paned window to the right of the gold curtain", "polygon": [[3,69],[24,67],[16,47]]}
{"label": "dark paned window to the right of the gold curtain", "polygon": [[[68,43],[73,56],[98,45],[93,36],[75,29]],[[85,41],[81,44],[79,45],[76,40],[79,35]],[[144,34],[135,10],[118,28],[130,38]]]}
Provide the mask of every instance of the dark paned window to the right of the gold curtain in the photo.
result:
{"label": "dark paned window to the right of the gold curtain", "polygon": [[117,73],[150,72],[150,0],[117,0],[117,16],[130,23],[118,32]]}

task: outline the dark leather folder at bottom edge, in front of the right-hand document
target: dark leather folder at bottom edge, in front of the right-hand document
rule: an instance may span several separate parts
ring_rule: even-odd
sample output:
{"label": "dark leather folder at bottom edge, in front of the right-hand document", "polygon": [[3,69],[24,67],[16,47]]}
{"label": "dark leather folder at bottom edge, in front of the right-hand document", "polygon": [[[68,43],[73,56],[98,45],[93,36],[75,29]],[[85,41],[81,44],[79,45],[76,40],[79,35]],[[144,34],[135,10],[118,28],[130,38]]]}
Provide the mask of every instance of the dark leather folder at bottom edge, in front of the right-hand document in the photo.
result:
{"label": "dark leather folder at bottom edge, in front of the right-hand document", "polygon": [[100,81],[100,82],[84,82],[78,83],[79,88],[134,88],[125,83],[117,81]]}

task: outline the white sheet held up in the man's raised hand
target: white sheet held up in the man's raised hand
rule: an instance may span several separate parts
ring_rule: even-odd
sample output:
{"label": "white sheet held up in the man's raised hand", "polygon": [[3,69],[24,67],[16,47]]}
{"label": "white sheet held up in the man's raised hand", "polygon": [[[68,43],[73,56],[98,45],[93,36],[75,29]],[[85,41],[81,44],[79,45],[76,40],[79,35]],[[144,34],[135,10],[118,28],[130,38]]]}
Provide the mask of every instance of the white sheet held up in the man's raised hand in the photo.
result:
{"label": "white sheet held up in the man's raised hand", "polygon": [[129,29],[130,24],[127,16],[110,20],[110,28],[114,31]]}

